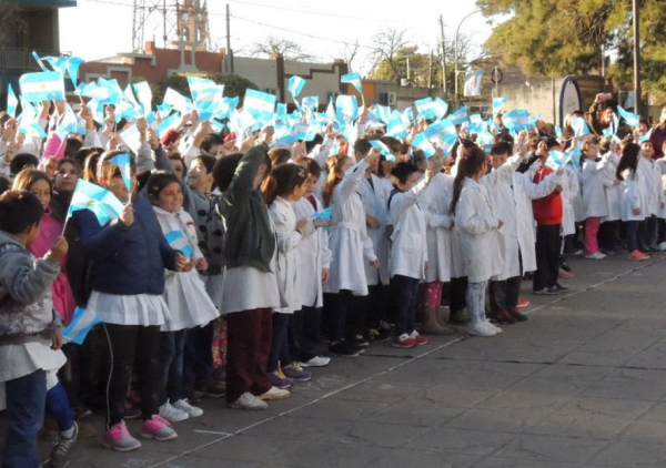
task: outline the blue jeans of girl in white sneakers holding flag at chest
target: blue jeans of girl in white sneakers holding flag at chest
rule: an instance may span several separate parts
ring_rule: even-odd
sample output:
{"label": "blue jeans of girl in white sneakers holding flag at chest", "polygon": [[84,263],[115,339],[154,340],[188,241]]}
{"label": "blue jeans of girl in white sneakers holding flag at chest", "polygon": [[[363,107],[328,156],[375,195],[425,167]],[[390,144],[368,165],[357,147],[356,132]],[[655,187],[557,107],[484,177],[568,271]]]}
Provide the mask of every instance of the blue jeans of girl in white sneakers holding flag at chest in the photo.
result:
{"label": "blue jeans of girl in white sneakers holding flag at chest", "polygon": [[183,397],[183,354],[186,329],[160,333],[160,406]]}

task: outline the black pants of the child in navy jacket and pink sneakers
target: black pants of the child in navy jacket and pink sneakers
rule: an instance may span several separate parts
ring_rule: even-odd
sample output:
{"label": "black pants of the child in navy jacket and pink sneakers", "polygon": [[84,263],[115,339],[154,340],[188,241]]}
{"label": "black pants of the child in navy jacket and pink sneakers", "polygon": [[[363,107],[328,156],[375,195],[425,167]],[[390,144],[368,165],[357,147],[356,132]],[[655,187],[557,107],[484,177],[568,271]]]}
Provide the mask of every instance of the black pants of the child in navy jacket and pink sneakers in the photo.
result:
{"label": "black pants of the child in navy jacket and pink sneakers", "polygon": [[124,401],[137,365],[143,420],[159,413],[160,327],[104,324],[111,353],[111,374],[107,390],[107,428],[122,421]]}

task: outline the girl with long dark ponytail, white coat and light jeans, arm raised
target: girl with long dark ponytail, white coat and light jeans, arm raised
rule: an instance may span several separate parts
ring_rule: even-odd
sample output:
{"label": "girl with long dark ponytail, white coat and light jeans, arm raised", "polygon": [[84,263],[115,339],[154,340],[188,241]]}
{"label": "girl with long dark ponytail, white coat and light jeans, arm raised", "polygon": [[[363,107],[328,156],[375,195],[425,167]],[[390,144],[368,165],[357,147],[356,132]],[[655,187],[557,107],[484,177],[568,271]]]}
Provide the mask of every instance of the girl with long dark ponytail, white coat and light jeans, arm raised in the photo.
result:
{"label": "girl with long dark ponytail, white coat and light jeans, arm raised", "polygon": [[453,182],[451,212],[460,240],[463,269],[467,276],[467,311],[470,325],[467,333],[476,336],[494,336],[500,327],[491,324],[485,316],[485,289],[491,276],[498,275],[504,263],[504,241],[501,227],[504,222],[497,217],[493,193],[497,185],[508,183],[525,155],[521,134],[521,152],[512,156],[497,170],[487,173],[487,159],[478,147],[458,152],[457,174]]}

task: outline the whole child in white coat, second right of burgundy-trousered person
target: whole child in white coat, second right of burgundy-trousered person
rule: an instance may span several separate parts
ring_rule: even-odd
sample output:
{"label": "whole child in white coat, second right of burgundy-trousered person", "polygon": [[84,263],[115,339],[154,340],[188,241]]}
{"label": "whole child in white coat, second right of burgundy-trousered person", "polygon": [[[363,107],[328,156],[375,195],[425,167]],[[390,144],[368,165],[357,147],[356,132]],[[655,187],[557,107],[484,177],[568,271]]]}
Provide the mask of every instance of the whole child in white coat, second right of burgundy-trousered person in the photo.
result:
{"label": "whole child in white coat, second right of burgundy-trousered person", "polygon": [[[307,171],[305,193],[293,202],[296,220],[311,220],[316,212],[323,210],[322,202],[314,196],[314,191],[322,175],[319,163],[310,157],[302,157],[299,163]],[[326,224],[330,224],[327,222]],[[321,308],[323,306],[322,284],[329,281],[331,251],[329,250],[329,233],[316,230],[296,245],[299,260],[299,286],[301,292],[301,311],[292,317],[293,359],[303,367],[323,367],[331,362],[330,357],[317,356],[314,347],[319,344],[321,332]]]}

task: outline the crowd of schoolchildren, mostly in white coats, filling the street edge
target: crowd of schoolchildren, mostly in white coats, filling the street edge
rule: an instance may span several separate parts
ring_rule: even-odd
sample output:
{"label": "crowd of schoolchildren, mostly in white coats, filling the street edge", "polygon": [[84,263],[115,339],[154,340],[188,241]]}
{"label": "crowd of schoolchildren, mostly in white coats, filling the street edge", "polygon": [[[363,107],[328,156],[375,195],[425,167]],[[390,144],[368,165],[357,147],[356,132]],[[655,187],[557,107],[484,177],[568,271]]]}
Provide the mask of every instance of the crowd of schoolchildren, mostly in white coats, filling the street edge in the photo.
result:
{"label": "crowd of schoolchildren, mostly in white coats, filling the street edge", "polygon": [[[330,123],[290,145],[271,124],[220,134],[192,112],[160,138],[138,119],[127,122],[138,151],[112,106],[99,125],[81,104],[84,131],[62,135],[65,103],[46,101],[46,139],[4,115],[2,466],[40,466],[44,415],[51,467],[93,434],[91,408],[105,411],[103,445],[133,450],[128,418],[142,418],[142,438],[171,440],[174,425],[203,415],[202,397],[263,410],[371,345],[495,336],[527,319],[526,276],[533,294],[567,291],[564,254],[666,251],[666,108],[652,131],[634,129],[603,99],[561,131],[509,131],[497,113],[491,144],[463,124],[434,154],[411,145],[427,116],[397,139],[371,108],[355,138]],[[90,193],[81,206],[80,181],[113,196],[117,215],[101,216]],[[63,343],[82,311],[100,324],[81,345]]]}

